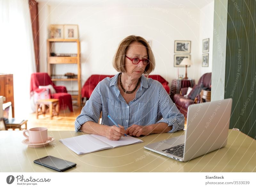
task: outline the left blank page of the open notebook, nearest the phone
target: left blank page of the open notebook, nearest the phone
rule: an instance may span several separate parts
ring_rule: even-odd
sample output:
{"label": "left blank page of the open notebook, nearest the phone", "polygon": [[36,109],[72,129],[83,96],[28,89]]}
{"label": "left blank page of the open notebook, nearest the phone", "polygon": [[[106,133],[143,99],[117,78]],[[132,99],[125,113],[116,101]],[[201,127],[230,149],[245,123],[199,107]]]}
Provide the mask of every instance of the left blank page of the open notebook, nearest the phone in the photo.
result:
{"label": "left blank page of the open notebook, nearest the phone", "polygon": [[91,135],[64,138],[59,141],[78,155],[112,148],[111,145],[108,145]]}

